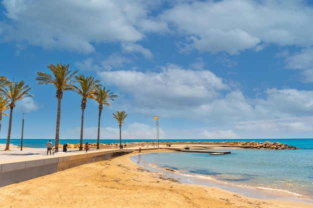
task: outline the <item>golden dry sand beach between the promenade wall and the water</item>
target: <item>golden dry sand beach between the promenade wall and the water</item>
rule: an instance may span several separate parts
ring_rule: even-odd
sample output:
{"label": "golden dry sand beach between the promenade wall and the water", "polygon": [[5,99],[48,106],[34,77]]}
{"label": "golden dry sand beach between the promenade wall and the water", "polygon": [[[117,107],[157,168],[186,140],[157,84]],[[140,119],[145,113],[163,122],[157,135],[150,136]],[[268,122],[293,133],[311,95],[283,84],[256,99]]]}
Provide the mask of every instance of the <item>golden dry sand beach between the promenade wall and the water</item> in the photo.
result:
{"label": "golden dry sand beach between the promenade wall and the water", "polygon": [[[153,150],[155,152],[155,150]],[[148,152],[148,151],[144,151]],[[180,184],[132,163],[131,153],[0,188],[1,208],[312,208]],[[143,153],[141,153],[143,154]]]}

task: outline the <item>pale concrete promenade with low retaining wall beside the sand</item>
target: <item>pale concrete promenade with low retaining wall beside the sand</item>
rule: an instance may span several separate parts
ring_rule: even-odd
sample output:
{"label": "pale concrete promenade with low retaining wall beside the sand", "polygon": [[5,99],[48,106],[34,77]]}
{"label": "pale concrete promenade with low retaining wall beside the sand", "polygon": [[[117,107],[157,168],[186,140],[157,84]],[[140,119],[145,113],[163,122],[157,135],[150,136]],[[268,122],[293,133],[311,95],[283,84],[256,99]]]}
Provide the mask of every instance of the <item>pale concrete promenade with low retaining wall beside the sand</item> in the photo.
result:
{"label": "pale concrete promenade with low retaining wall beside the sand", "polygon": [[[0,144],[0,187],[45,176],[87,163],[94,163],[119,157],[139,147],[124,149],[91,149],[88,152],[67,149],[66,152],[46,155],[46,148],[23,148],[10,146],[4,151],[5,144]],[[144,149],[141,147],[141,149]]]}

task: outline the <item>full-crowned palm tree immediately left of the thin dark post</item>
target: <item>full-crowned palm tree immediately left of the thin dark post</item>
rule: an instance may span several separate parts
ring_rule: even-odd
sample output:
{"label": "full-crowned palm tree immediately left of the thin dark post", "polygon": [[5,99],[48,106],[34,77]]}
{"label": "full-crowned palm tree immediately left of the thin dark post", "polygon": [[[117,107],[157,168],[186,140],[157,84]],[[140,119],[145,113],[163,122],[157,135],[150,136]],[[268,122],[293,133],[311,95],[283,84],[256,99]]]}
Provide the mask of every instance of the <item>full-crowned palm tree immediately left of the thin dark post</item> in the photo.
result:
{"label": "full-crowned palm tree immediately left of the thin dark post", "polygon": [[5,150],[9,150],[10,145],[10,136],[11,136],[11,125],[12,125],[12,112],[13,108],[15,107],[15,103],[18,100],[21,100],[25,97],[32,97],[31,94],[29,94],[29,90],[31,90],[30,86],[24,85],[24,81],[20,82],[14,82],[14,79],[12,82],[9,82],[9,84],[3,89],[3,95],[4,97],[10,102],[10,118],[8,123],[8,131],[7,131],[7,140],[6,140],[6,147]]}

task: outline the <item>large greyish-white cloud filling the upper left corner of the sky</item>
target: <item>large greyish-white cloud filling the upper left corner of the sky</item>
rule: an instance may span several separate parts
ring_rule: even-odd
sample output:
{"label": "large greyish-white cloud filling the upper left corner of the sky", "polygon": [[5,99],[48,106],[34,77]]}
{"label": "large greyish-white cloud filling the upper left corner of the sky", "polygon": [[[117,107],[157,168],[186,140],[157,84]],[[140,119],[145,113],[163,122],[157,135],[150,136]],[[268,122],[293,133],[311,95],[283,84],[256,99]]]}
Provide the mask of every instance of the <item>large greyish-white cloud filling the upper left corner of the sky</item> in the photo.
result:
{"label": "large greyish-white cloud filling the upper left corner of the sky", "polygon": [[[137,18],[146,13],[139,1],[3,0],[5,15],[15,23],[6,40],[25,41],[46,49],[90,53],[93,42],[138,41]],[[55,12],[57,11],[57,12]]]}

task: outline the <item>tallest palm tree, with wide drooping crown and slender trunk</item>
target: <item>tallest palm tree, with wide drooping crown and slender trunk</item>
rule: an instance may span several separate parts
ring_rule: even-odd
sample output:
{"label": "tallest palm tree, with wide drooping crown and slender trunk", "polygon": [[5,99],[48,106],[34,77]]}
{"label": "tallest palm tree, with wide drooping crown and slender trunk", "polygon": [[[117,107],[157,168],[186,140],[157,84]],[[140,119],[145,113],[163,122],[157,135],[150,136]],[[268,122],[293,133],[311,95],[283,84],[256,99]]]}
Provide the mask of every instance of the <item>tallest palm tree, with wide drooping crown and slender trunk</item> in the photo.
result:
{"label": "tallest palm tree, with wide drooping crown and slender trunk", "polygon": [[73,73],[68,69],[69,65],[62,65],[57,63],[56,66],[51,64],[47,66],[50,71],[53,73],[53,76],[44,73],[37,72],[36,80],[39,84],[53,84],[56,89],[56,98],[57,98],[57,114],[56,114],[56,130],[55,130],[55,152],[58,152],[58,141],[59,141],[59,128],[60,128],[60,117],[61,117],[61,100],[63,97],[63,91],[70,90],[74,91],[73,81],[71,80],[78,70],[75,70]]}

